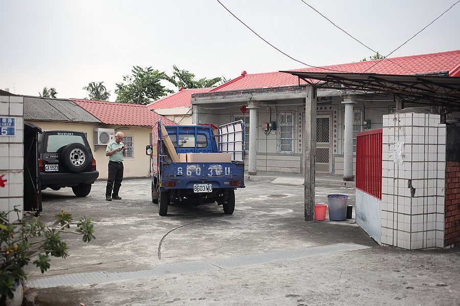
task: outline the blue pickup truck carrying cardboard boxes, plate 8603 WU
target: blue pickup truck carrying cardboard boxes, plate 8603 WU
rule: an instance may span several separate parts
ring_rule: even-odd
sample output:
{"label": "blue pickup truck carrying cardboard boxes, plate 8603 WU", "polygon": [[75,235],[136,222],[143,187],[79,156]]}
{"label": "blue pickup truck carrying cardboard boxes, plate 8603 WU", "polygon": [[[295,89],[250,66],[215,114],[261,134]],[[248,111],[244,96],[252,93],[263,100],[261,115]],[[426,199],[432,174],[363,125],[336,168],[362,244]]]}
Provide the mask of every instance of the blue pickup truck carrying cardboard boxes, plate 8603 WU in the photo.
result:
{"label": "blue pickup truck carrying cardboard boxes, plate 8603 WU", "polygon": [[158,120],[146,154],[151,156],[152,202],[158,203],[160,216],[167,215],[170,203],[184,200],[216,201],[225,214],[233,214],[235,190],[245,187],[243,121],[216,128]]}

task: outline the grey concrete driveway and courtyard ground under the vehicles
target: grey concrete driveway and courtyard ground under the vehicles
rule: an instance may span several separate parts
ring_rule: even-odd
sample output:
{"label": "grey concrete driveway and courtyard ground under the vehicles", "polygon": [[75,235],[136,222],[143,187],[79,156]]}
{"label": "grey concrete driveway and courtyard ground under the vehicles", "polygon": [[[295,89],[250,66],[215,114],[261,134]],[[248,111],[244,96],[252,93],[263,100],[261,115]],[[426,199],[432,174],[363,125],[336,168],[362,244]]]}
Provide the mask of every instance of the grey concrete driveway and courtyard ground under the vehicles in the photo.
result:
{"label": "grey concrete driveway and courtyard ground under the vehicles", "polygon": [[[149,179],[105,201],[43,192],[43,221],[62,209],[96,219],[95,241],[65,236],[70,256],[28,268],[38,305],[456,305],[460,249],[381,247],[354,219],[304,221],[303,186],[246,182],[233,215],[216,203],[175,205],[160,217]],[[354,188],[317,186],[316,202]]]}

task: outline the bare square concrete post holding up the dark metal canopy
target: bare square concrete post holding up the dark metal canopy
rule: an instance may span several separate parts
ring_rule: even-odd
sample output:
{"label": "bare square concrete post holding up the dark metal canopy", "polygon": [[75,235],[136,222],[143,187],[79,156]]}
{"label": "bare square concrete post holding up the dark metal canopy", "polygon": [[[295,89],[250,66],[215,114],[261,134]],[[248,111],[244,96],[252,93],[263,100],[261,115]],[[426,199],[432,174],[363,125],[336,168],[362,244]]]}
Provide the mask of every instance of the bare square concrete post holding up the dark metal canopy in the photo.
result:
{"label": "bare square concrete post holding up the dark metal canopy", "polygon": [[316,88],[307,87],[305,98],[304,133],[304,217],[305,221],[315,219],[315,152],[316,152]]}

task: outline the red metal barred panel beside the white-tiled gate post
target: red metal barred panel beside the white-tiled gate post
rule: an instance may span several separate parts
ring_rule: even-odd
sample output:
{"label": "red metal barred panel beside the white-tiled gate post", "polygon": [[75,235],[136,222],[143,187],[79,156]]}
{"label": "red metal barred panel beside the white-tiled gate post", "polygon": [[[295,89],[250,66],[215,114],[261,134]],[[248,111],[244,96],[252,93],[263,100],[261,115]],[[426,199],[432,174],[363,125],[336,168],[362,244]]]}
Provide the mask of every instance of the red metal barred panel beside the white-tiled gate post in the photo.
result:
{"label": "red metal barred panel beside the white-tiled gate post", "polygon": [[382,199],[382,129],[356,137],[356,188]]}

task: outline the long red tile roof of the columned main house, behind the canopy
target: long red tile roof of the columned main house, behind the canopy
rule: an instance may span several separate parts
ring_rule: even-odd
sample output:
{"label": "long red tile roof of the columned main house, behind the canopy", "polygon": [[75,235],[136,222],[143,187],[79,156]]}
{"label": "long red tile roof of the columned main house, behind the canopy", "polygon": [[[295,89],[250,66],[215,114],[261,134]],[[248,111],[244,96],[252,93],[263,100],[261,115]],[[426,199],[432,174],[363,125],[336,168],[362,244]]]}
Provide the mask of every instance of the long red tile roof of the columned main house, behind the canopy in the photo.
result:
{"label": "long red tile roof of the columned main house, behind the canopy", "polygon": [[[374,67],[372,67],[375,65]],[[362,73],[381,73],[381,74],[416,74],[448,71],[450,77],[460,77],[460,50],[413,55],[379,60],[355,62],[348,64],[321,66],[318,68],[292,69],[293,71],[308,72],[355,72]],[[371,68],[372,67],[372,68]],[[328,70],[329,69],[329,70]],[[305,83],[301,81],[301,83]],[[246,71],[241,76],[228,81],[210,91],[238,90],[250,88],[263,88],[275,86],[297,85],[298,79],[294,75],[284,72],[266,72],[247,74]]]}

